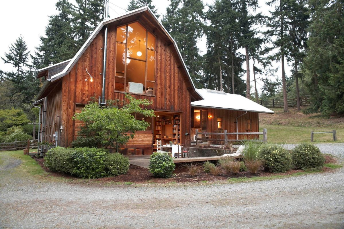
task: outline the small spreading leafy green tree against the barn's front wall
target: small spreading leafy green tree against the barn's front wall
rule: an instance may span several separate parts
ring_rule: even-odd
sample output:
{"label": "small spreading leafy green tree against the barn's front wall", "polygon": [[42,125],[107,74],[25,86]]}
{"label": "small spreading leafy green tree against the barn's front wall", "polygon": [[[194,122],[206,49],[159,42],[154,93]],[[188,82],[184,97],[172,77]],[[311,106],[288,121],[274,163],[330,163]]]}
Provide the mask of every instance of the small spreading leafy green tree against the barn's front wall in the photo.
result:
{"label": "small spreading leafy green tree against the barn's front wall", "polygon": [[[148,106],[152,101],[147,99],[135,99],[126,95],[128,102],[123,106],[102,107],[98,103],[90,103],[76,113],[74,119],[85,123],[78,138],[86,137],[98,145],[98,147],[114,147],[119,152],[121,145],[126,145],[130,138],[133,138],[137,130],[146,130],[149,123],[144,120],[137,120],[133,114],[142,114],[143,117],[153,117],[153,110],[141,108]],[[77,139],[78,140],[78,139]]]}

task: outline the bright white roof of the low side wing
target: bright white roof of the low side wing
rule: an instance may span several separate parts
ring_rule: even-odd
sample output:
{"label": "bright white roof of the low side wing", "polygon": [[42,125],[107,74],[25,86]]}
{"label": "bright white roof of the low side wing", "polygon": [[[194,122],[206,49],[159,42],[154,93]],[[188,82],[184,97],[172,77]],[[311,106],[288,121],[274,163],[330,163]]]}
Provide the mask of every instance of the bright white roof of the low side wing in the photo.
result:
{"label": "bright white roof of the low side wing", "polygon": [[269,114],[275,113],[270,109],[245,98],[242,95],[229,94],[223,91],[209,90],[204,88],[196,90],[202,95],[204,100],[191,102],[191,106]]}

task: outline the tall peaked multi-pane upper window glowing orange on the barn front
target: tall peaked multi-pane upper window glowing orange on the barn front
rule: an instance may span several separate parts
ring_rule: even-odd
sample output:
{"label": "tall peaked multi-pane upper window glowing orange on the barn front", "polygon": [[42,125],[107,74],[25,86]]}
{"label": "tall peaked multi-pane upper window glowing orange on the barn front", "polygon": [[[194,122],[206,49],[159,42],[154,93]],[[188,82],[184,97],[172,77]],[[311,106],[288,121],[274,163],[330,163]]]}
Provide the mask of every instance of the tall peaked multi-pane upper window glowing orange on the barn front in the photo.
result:
{"label": "tall peaked multi-pane upper window glowing orange on the barn front", "polygon": [[139,22],[117,27],[115,90],[155,94],[155,37]]}

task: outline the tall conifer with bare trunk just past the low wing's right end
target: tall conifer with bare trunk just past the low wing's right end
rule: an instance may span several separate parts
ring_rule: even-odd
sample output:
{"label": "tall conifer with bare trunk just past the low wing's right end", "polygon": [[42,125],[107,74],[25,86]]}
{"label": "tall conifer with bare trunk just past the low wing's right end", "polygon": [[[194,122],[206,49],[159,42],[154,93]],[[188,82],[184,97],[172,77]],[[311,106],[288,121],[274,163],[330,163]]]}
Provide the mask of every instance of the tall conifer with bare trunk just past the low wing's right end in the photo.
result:
{"label": "tall conifer with bare trunk just past the low wing's right end", "polygon": [[[267,2],[267,5],[275,6],[275,11],[270,12],[271,16],[268,18],[267,27],[269,30],[266,32],[267,37],[270,39],[272,47],[270,50],[278,49],[276,53],[273,53],[271,60],[281,61],[282,71],[282,90],[283,90],[283,102],[284,112],[288,112],[288,99],[287,99],[287,85],[286,85],[286,72],[284,70],[284,57],[288,55],[288,49],[286,46],[289,44],[289,36],[286,30],[287,14],[289,13],[288,0],[272,0]],[[276,37],[275,40],[272,38]]]}

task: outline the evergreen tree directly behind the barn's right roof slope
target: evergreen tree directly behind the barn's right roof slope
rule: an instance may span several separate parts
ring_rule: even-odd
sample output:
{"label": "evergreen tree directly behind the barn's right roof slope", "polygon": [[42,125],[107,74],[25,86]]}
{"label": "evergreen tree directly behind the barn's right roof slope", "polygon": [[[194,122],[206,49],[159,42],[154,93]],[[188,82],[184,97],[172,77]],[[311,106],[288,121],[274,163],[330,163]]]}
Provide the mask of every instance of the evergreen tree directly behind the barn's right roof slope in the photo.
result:
{"label": "evergreen tree directly behind the barn's right roof slope", "polygon": [[204,30],[203,9],[204,5],[200,0],[171,0],[162,20],[177,43],[185,65],[198,87],[201,86],[202,57],[198,53],[197,40]]}

